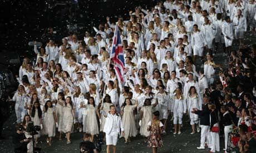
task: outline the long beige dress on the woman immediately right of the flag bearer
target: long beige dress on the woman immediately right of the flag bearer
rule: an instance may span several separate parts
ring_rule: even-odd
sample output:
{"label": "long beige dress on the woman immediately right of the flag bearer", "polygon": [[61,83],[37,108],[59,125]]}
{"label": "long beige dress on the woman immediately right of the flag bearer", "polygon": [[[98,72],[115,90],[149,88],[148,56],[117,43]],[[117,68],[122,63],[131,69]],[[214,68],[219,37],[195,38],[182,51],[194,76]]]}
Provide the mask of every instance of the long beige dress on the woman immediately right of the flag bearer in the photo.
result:
{"label": "long beige dress on the woman immediately right of the flag bearer", "polygon": [[137,135],[137,128],[134,119],[134,105],[126,105],[124,114],[122,115],[122,123],[124,124],[125,139],[128,137],[135,137]]}

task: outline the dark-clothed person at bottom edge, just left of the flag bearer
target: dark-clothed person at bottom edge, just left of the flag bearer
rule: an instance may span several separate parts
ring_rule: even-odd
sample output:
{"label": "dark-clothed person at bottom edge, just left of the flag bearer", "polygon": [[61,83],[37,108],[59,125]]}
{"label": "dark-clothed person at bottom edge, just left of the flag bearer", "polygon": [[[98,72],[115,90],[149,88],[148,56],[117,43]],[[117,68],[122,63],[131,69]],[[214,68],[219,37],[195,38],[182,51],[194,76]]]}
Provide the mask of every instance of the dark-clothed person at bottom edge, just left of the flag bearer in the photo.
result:
{"label": "dark-clothed person at bottom edge, just left of the flag bearer", "polygon": [[85,134],[83,141],[80,143],[80,153],[97,153],[96,147],[91,140],[90,134]]}

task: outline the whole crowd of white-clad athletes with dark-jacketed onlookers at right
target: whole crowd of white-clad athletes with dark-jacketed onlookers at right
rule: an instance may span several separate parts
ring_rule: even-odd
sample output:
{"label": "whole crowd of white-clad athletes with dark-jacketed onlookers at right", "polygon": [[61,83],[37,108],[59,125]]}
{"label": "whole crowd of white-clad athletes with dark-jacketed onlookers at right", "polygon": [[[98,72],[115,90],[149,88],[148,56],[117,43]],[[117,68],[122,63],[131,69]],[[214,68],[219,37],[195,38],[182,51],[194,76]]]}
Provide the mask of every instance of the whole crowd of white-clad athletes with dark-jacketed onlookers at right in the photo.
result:
{"label": "whole crowd of white-clad athletes with dark-jacketed onlookers at right", "polygon": [[[36,64],[23,59],[12,98],[17,123],[41,126],[35,144],[40,135],[52,145],[56,135],[62,140],[66,134],[70,144],[72,132],[86,140],[90,134],[92,142],[104,132],[108,153],[110,146],[115,152],[118,135],[125,143],[142,135],[157,152],[161,134],[174,125],[173,135],[180,135],[188,115],[191,135],[201,131],[197,149],[220,151],[224,135],[225,152],[255,152],[256,44],[243,45],[244,33],[255,32],[255,12],[254,0],[166,0],[136,7],[129,21],[107,17],[93,27],[95,37],[87,31],[80,40],[70,33],[60,45],[49,39],[38,48],[35,42]],[[124,85],[110,59],[115,24]],[[214,62],[217,54],[227,58],[223,68]]]}

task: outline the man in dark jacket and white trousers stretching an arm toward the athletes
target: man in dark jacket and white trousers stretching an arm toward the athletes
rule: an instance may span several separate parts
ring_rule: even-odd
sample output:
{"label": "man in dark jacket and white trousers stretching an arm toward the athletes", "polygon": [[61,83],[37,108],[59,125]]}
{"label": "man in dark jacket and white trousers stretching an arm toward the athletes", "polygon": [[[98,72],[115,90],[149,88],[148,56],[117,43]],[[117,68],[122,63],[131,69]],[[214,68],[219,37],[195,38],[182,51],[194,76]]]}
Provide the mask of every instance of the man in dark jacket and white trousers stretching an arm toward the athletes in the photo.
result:
{"label": "man in dark jacket and white trousers stretching an arm toward the athletes", "polygon": [[192,113],[199,115],[200,127],[201,127],[200,146],[196,147],[196,149],[205,149],[205,138],[207,137],[207,135],[209,135],[209,130],[210,130],[210,112],[211,111],[208,108],[209,104],[210,104],[210,98],[208,96],[204,96],[202,110],[193,108],[193,111],[192,111]]}

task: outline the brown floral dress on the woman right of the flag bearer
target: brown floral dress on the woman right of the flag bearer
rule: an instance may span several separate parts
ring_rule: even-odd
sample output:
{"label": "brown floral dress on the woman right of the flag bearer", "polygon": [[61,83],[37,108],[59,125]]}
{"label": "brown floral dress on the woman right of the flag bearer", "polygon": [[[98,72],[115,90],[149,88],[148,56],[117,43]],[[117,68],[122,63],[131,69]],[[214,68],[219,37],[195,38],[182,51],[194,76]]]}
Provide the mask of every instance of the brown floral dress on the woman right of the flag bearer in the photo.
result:
{"label": "brown floral dress on the woman right of the flag bearer", "polygon": [[148,147],[161,147],[163,146],[163,141],[161,137],[161,127],[164,125],[160,120],[151,120],[148,124],[150,135],[147,137]]}

